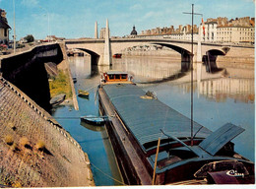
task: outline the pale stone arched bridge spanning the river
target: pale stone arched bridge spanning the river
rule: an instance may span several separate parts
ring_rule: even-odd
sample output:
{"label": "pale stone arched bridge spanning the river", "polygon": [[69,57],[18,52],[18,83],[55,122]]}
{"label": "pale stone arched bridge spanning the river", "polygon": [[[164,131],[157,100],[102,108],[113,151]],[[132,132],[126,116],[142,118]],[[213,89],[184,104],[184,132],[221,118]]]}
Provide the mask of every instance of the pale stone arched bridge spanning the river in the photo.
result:
{"label": "pale stone arched bridge spanning the river", "polygon": [[[181,62],[190,62],[192,57],[191,42],[188,40],[175,40],[169,38],[111,38],[110,40],[110,56],[121,53],[122,50],[133,46],[143,46],[149,44],[159,44],[171,48],[181,55]],[[109,65],[103,61],[105,39],[68,39],[65,41],[69,49],[80,49],[88,52],[92,56],[92,64]],[[216,43],[198,43],[194,42],[193,62],[203,62],[203,60],[216,61],[218,55],[225,55],[230,46]],[[214,66],[214,65],[213,65]]]}

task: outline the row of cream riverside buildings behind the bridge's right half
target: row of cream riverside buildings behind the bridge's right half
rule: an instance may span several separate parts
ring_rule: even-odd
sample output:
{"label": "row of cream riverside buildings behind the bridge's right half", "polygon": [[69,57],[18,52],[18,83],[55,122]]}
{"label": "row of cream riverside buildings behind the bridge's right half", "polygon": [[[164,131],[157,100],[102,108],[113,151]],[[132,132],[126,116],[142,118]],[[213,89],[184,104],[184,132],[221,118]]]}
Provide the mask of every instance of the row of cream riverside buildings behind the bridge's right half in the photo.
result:
{"label": "row of cream riverside buildings behind the bridge's right half", "polygon": [[[203,25],[205,30],[203,30]],[[199,30],[200,28],[200,30]],[[218,17],[217,19],[207,19],[204,24],[197,28],[193,26],[193,38],[201,41],[233,43],[233,44],[254,44],[255,41],[255,18],[243,17],[231,19]],[[200,33],[199,33],[200,32]],[[169,28],[156,28],[142,31],[137,37],[164,37],[177,40],[191,40],[192,27],[190,25],[179,25],[177,29],[173,26]]]}

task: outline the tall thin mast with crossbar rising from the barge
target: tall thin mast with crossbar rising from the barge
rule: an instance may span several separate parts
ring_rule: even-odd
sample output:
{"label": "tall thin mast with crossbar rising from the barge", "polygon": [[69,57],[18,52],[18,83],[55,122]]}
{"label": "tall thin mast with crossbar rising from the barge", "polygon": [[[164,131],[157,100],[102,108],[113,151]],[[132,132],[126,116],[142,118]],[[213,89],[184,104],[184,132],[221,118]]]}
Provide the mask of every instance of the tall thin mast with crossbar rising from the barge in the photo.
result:
{"label": "tall thin mast with crossbar rising from the barge", "polygon": [[190,102],[190,108],[191,108],[191,118],[190,118],[190,125],[191,125],[191,143],[190,145],[193,146],[193,57],[194,57],[194,15],[201,15],[199,13],[194,13],[194,4],[192,4],[192,12],[191,13],[183,13],[183,14],[189,14],[192,17],[192,33],[191,33],[191,55],[190,55],[190,69],[191,69],[191,102]]}

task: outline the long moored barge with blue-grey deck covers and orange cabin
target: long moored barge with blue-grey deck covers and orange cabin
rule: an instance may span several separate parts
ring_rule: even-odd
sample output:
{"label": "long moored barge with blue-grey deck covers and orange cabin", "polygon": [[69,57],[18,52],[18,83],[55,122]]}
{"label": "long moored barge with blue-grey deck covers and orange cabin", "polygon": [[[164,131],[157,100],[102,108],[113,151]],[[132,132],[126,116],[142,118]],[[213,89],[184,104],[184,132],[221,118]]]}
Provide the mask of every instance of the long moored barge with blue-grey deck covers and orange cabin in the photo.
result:
{"label": "long moored barge with blue-grey deck covers and orange cabin", "polygon": [[[121,81],[122,80],[122,81]],[[193,122],[129,81],[104,73],[99,110],[123,180],[128,185],[253,184],[254,163],[230,142],[244,131],[231,123],[217,131]],[[193,136],[193,137],[191,137]]]}

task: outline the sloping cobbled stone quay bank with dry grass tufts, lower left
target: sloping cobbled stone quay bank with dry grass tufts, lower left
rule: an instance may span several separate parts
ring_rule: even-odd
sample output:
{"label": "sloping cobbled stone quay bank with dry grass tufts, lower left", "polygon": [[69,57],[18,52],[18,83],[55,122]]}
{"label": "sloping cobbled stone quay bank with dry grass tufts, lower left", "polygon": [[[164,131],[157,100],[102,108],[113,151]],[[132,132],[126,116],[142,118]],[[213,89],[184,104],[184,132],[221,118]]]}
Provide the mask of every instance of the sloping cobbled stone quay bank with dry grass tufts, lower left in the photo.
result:
{"label": "sloping cobbled stone quay bank with dry grass tufts, lower left", "polygon": [[94,186],[81,146],[28,95],[0,76],[0,184]]}

